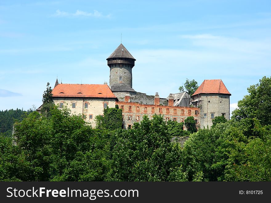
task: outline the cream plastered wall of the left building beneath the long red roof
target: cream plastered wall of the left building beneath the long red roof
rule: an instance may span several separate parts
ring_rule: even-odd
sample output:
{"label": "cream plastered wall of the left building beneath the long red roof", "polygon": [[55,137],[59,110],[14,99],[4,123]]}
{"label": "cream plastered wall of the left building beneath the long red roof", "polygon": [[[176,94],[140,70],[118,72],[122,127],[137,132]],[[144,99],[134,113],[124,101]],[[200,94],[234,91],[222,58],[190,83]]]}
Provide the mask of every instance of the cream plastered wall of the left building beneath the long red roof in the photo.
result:
{"label": "cream plastered wall of the left building beneath the long red roof", "polygon": [[[104,103],[109,108],[115,108],[115,98],[54,98],[55,105],[60,106],[63,103],[63,107],[67,107],[71,110],[71,114],[81,114],[84,120],[95,127],[95,116],[103,115]],[[72,103],[75,103],[75,108],[72,108]],[[87,104],[87,108],[85,108]],[[84,116],[83,116],[84,115]],[[92,115],[92,118],[90,118]]]}

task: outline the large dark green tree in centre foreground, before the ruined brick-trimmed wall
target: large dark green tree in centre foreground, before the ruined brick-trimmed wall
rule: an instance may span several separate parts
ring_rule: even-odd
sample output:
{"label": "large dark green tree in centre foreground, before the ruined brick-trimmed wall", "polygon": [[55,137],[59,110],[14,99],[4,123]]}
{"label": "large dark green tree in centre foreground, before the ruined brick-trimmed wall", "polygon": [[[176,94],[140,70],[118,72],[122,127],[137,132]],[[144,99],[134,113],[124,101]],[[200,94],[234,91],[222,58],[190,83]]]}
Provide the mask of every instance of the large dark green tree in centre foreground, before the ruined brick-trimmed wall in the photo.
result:
{"label": "large dark green tree in centre foreground, before the ruined brick-trimmed wall", "polygon": [[[184,174],[179,143],[171,142],[162,116],[144,116],[132,129],[116,131],[111,180],[167,181]],[[185,176],[178,180],[186,180]]]}

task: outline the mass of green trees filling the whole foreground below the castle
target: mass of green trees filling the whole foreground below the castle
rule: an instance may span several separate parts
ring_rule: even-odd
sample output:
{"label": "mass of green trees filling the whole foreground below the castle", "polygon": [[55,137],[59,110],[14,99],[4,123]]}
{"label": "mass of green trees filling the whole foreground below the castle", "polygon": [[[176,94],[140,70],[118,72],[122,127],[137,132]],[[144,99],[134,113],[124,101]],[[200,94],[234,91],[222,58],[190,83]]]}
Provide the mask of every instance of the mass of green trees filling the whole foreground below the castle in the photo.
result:
{"label": "mass of green trees filling the whole foreground below the castle", "polygon": [[[271,181],[271,78],[248,93],[229,121],[216,117],[197,132],[192,121],[184,131],[163,115],[121,129],[118,106],[104,109],[92,129],[47,105],[15,117],[12,136],[2,132],[0,181]],[[172,139],[187,135],[183,146]]]}

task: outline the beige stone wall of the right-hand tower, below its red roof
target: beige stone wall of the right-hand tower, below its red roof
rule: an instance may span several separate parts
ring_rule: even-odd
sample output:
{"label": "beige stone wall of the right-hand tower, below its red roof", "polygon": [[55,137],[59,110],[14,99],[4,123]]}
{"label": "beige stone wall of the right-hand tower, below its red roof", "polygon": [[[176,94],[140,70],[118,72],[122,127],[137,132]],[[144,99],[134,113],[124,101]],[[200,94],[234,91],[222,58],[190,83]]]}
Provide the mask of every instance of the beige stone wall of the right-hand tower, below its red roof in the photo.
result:
{"label": "beige stone wall of the right-hand tower, below its red roof", "polygon": [[[212,126],[213,117],[222,116],[229,120],[229,95],[226,94],[199,94],[193,97],[193,100],[198,99],[198,102],[193,102],[193,105],[200,108],[200,127],[207,128]],[[204,114],[206,114],[204,116]]]}

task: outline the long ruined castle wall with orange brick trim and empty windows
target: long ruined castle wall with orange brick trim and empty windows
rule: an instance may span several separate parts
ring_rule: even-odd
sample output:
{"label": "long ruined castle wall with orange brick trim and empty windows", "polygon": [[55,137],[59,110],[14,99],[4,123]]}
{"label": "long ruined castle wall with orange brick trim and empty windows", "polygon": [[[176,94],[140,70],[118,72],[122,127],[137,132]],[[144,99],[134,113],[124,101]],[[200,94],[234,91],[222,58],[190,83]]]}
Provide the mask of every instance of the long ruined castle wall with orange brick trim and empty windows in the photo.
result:
{"label": "long ruined castle wall with orange brick trim and empty windows", "polygon": [[135,122],[142,121],[144,115],[147,115],[151,119],[154,114],[162,114],[165,120],[176,120],[179,123],[184,122],[184,119],[188,116],[193,116],[197,120],[197,126],[200,125],[199,108],[148,105],[122,101],[116,102],[116,104],[122,109],[124,129],[128,129]]}

